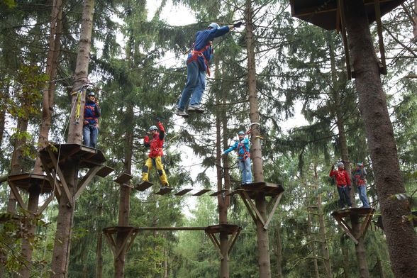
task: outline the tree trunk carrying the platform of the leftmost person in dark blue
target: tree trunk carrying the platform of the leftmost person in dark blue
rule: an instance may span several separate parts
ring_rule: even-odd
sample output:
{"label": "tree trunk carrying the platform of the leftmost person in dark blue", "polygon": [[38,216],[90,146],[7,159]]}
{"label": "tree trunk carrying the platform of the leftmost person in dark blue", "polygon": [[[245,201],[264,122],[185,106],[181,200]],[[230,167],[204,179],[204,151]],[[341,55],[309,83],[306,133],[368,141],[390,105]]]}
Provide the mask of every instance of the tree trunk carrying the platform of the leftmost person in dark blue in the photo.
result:
{"label": "tree trunk carrying the platform of the leftmost person in dark blue", "polygon": [[[94,0],[84,0],[82,27],[79,38],[79,52],[77,56],[77,67],[75,69],[75,80],[73,90],[80,89],[87,82],[89,52],[91,47],[91,30],[94,11]],[[81,96],[80,111],[84,111],[85,90]],[[77,101],[77,95],[72,96],[71,107]],[[79,124],[75,122],[75,109],[72,109],[70,115],[70,126],[68,129],[67,143],[81,144],[81,131],[84,114],[80,113]],[[68,159],[62,165],[65,181],[70,191],[77,187],[79,161]],[[72,228],[72,218],[74,215],[75,200],[68,199],[65,191],[62,192],[59,201],[59,211],[57,216],[57,231],[55,234],[54,250],[52,252],[52,277],[66,278],[68,275],[68,264],[70,262],[70,236]]]}

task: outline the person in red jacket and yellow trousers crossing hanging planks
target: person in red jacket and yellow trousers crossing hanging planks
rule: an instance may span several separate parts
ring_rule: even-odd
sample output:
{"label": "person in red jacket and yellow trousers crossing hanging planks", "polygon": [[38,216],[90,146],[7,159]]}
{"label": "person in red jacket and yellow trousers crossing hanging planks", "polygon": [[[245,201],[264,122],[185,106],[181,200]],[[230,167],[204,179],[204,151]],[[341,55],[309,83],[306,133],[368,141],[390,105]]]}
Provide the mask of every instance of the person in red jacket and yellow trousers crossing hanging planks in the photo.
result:
{"label": "person in red jacket and yellow trousers crossing hanging planks", "polygon": [[164,165],[162,165],[162,155],[164,155],[162,148],[165,139],[164,126],[162,126],[161,122],[158,122],[158,127],[151,126],[148,130],[148,134],[149,136],[146,135],[143,139],[143,145],[149,147],[150,152],[148,160],[146,160],[145,165],[143,165],[142,168],[142,181],[149,182],[149,172],[152,169],[152,166],[155,165],[162,187],[169,187],[167,174],[165,174]]}

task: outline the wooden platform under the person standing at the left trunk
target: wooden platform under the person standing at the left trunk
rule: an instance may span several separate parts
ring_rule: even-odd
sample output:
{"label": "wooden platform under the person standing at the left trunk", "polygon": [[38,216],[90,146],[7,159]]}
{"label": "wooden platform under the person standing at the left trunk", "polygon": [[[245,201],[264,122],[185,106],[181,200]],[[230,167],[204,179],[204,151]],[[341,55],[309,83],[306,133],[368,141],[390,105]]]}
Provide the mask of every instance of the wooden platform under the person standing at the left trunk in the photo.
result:
{"label": "wooden platform under the person standing at the left trunk", "polygon": [[[52,145],[52,146],[51,146]],[[43,160],[43,166],[48,168],[54,168],[55,163],[52,161],[51,156],[57,160],[58,153],[60,166],[68,159],[79,161],[79,167],[92,168],[95,166],[103,165],[106,162],[101,150],[93,149],[79,144],[51,144],[42,150],[40,150],[40,157]],[[50,155],[51,154],[51,155]]]}

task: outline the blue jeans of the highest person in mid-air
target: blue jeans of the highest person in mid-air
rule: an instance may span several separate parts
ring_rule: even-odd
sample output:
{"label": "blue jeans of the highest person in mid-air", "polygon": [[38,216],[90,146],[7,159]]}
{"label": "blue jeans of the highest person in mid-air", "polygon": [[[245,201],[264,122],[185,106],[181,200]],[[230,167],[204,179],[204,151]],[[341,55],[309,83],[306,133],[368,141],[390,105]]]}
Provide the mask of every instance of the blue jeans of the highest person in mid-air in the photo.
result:
{"label": "blue jeans of the highest person in mid-air", "polygon": [[199,105],[204,89],[206,89],[206,72],[199,70],[196,61],[190,62],[187,65],[187,84],[178,101],[178,109],[184,111],[188,102],[190,105]]}

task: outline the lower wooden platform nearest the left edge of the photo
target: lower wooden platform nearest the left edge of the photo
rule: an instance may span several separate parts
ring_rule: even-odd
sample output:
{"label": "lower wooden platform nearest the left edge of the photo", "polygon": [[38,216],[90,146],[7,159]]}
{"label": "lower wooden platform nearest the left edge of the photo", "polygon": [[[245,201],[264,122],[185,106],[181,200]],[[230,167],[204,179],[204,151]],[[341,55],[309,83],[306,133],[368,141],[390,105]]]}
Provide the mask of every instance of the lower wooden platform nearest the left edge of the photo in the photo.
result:
{"label": "lower wooden platform nearest the left edge of the photo", "polygon": [[53,191],[53,184],[50,184],[48,177],[44,174],[13,174],[7,177],[7,181],[11,186],[18,187],[24,191],[28,191],[31,187],[39,187],[40,194]]}

